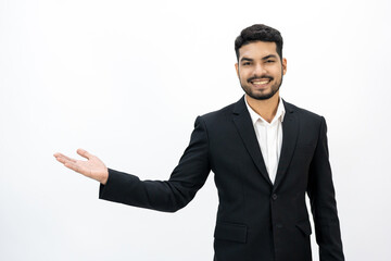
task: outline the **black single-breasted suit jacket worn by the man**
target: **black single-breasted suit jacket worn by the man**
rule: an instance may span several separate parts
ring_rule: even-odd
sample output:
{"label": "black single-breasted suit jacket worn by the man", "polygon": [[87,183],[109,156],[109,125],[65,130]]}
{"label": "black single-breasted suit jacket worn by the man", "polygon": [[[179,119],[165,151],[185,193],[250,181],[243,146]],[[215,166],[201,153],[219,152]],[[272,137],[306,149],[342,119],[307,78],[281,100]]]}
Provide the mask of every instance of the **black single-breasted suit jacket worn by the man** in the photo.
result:
{"label": "black single-breasted suit jacket worn by the man", "polygon": [[283,104],[274,184],[242,97],[195,120],[190,144],[168,181],[142,182],[110,169],[100,198],[174,212],[189,203],[212,170],[219,198],[215,260],[306,261],[312,260],[307,192],[320,260],[344,260],[325,119]]}

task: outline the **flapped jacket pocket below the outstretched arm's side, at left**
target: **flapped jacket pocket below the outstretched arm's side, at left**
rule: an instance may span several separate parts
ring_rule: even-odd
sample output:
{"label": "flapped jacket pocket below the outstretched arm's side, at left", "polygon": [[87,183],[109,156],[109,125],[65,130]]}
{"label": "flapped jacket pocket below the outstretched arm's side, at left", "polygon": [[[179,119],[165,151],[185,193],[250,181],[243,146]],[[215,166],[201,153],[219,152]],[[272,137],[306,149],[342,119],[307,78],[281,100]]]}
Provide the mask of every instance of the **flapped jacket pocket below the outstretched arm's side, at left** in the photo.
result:
{"label": "flapped jacket pocket below the outstretched arm's side, at left", "polygon": [[248,227],[242,224],[217,222],[214,232],[216,239],[229,240],[236,243],[245,243],[248,236]]}

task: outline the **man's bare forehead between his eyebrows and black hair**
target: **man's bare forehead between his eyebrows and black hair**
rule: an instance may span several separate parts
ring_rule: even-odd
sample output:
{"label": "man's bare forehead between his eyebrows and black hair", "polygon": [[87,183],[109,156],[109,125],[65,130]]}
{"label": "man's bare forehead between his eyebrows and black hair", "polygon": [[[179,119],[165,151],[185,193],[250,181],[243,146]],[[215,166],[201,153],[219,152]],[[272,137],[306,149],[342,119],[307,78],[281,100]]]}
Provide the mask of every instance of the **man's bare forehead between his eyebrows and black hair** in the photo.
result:
{"label": "man's bare forehead between his eyebrows and black hair", "polygon": [[278,57],[277,45],[273,41],[254,41],[247,44],[239,49],[239,60],[243,57],[261,59],[270,54],[275,54]]}

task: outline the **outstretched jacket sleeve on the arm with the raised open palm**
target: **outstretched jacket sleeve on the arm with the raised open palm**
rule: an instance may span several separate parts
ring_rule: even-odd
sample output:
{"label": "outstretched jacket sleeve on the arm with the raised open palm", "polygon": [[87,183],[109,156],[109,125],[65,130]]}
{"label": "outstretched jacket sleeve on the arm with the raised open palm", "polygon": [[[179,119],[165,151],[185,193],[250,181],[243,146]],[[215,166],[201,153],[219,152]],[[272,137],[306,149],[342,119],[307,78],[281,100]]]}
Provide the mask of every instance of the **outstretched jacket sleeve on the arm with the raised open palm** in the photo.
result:
{"label": "outstretched jacket sleeve on the arm with the raised open palm", "polygon": [[[168,181],[140,181],[137,176],[109,169],[99,198],[152,210],[175,212],[187,206],[210,173],[205,123],[197,117],[190,144]],[[151,162],[153,163],[153,162]]]}

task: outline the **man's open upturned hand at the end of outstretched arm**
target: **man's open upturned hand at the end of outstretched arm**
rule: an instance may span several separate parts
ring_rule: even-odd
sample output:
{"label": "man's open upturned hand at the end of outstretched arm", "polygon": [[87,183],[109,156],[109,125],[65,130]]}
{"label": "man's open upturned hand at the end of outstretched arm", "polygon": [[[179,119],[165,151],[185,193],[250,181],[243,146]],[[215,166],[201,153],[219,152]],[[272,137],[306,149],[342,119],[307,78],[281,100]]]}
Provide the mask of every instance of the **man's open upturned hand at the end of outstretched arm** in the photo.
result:
{"label": "man's open upturned hand at the end of outstretched arm", "polygon": [[54,153],[54,158],[64,164],[64,166],[78,172],[85,176],[105,185],[109,178],[109,170],[98,157],[88,153],[84,149],[78,149],[77,153],[87,159],[87,161],[74,160],[62,153]]}

